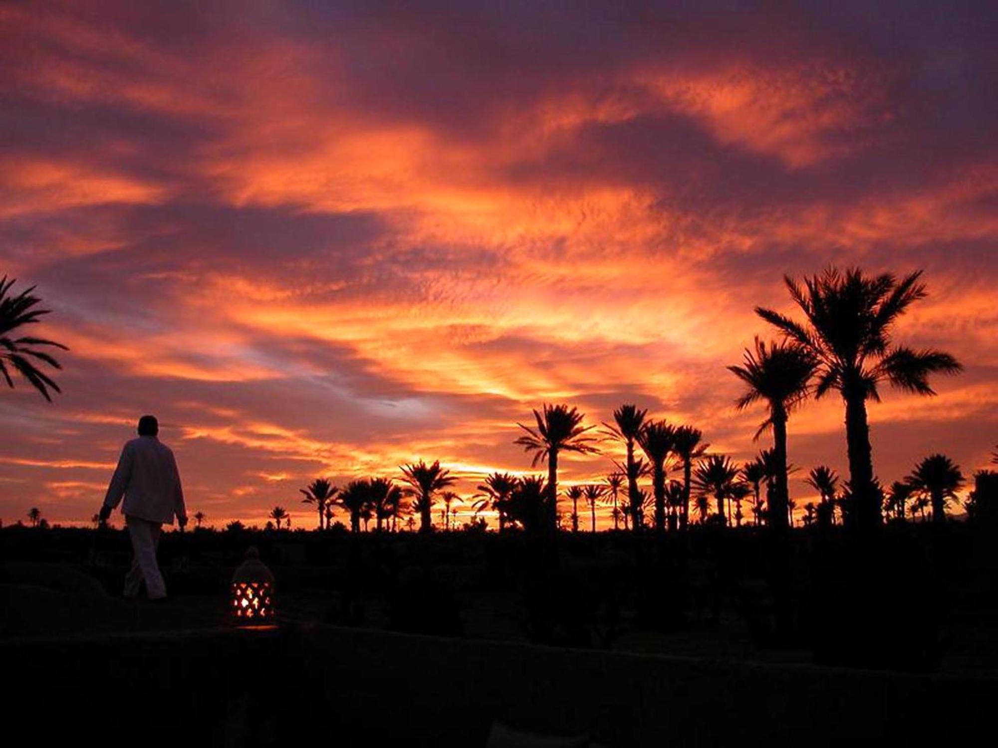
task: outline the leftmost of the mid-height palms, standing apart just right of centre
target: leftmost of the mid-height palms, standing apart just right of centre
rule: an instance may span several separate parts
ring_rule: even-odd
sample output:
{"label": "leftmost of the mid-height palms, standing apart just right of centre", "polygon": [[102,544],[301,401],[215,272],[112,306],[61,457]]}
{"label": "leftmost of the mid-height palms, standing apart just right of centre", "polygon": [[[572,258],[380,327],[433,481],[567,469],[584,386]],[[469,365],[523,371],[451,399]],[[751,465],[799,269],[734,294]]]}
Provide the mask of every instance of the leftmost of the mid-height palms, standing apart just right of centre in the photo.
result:
{"label": "leftmost of the mid-height palms, standing apart just right of centre", "polygon": [[592,446],[594,440],[586,435],[593,427],[583,426],[582,419],[585,416],[577,408],[569,408],[567,405],[545,403],[541,411],[534,410],[533,413],[537,428],[517,424],[527,434],[514,444],[523,447],[527,453],[533,453],[531,467],[536,468],[542,462],[548,464],[548,529],[555,532],[558,517],[558,456],[562,452],[595,453],[597,450]]}

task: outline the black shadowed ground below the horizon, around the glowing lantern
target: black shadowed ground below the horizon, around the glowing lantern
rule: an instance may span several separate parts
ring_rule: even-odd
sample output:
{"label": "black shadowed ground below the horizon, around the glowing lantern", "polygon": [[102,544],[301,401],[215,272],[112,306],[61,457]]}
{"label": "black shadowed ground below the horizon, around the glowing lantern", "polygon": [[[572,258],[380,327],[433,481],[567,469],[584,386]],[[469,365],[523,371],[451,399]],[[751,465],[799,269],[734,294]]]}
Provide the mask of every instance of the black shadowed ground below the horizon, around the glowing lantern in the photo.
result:
{"label": "black shadowed ground below the horizon, around the glowing lantern", "polygon": [[[227,618],[250,545],[276,577],[274,629]],[[773,569],[750,529],[554,547],[195,532],[165,536],[158,605],[117,596],[124,533],[9,528],[0,651],[66,719],[124,728],[162,696],[196,744],[484,745],[496,719],[610,746],[958,743],[998,694],[996,548],[980,528],[905,526],[859,559],[835,531],[798,531]]]}

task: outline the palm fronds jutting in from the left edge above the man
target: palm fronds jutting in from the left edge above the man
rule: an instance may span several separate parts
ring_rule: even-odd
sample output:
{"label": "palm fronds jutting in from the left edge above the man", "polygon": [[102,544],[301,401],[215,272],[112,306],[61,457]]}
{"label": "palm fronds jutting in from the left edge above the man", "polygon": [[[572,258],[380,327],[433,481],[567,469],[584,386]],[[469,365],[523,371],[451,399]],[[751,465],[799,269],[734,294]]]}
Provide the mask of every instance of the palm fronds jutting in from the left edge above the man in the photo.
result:
{"label": "palm fronds jutting in from the left edge above the man", "polygon": [[35,286],[25,288],[17,295],[12,294],[10,289],[15,282],[13,278],[8,280],[6,275],[0,278],[0,376],[13,389],[11,370],[18,372],[51,403],[52,395],[49,390],[62,390],[48,374],[38,368],[36,362],[48,364],[54,369],[62,369],[62,366],[52,354],[39,350],[39,347],[60,348],[64,351],[69,348],[45,338],[20,335],[18,328],[37,324],[39,318],[49,314],[51,309],[37,308],[41,299],[33,294]]}

